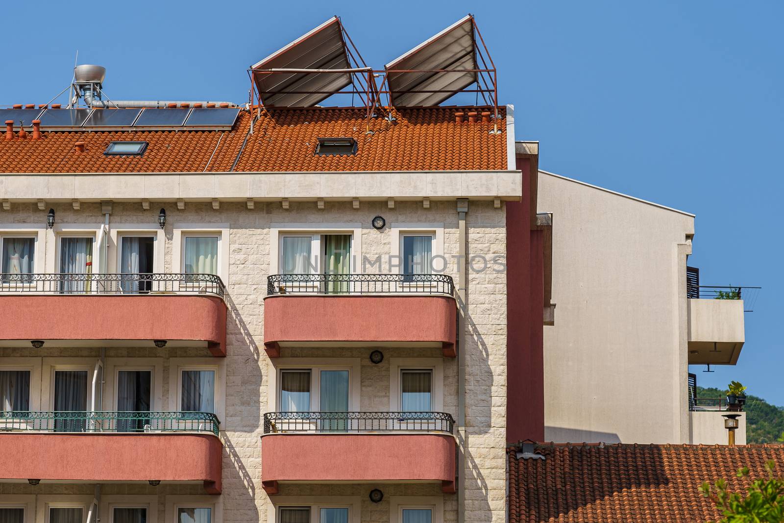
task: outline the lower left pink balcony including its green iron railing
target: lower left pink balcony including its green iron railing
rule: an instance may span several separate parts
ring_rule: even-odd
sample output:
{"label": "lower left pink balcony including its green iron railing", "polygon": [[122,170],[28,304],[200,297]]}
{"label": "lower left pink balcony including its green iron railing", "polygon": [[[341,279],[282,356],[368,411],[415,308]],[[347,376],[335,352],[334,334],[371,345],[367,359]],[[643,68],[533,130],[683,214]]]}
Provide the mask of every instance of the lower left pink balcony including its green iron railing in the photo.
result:
{"label": "lower left pink balcony including its green iron railing", "polygon": [[220,494],[218,425],[207,412],[0,412],[0,480],[172,481]]}

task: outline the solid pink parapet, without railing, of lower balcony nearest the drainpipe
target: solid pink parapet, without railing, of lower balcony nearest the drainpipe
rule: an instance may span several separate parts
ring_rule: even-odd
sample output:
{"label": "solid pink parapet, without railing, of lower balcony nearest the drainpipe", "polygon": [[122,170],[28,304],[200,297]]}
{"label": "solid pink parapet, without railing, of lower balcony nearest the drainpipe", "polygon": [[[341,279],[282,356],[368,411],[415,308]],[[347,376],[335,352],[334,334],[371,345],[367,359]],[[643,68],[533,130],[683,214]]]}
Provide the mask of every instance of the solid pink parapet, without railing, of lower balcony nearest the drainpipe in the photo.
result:
{"label": "solid pink parapet, without railing, of lower balcony nearest the drainpipe", "polygon": [[451,434],[266,434],[262,485],[281,482],[429,482],[455,492]]}

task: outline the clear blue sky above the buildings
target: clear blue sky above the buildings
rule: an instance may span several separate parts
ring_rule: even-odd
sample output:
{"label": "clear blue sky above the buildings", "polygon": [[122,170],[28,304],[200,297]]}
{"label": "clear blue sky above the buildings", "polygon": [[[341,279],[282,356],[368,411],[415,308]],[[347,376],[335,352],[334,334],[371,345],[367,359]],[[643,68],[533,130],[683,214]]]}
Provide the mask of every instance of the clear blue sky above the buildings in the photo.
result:
{"label": "clear blue sky above the buildings", "polygon": [[[25,5],[27,4],[27,5]],[[115,99],[244,102],[246,69],[333,14],[368,64],[466,13],[477,17],[540,167],[697,215],[690,263],[710,285],[761,285],[735,367],[784,405],[780,232],[784,2],[14,2],[0,104],[42,104],[71,81],[74,53],[107,67]],[[640,289],[644,300],[645,289]],[[651,391],[655,401],[655,391]]]}

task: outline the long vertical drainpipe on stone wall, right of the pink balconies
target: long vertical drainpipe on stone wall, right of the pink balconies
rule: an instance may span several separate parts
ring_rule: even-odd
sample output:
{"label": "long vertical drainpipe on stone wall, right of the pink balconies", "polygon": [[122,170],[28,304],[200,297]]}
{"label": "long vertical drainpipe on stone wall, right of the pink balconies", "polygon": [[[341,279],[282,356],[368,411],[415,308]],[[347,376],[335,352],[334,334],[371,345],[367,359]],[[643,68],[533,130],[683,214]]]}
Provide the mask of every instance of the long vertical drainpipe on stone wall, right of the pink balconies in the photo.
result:
{"label": "long vertical drainpipe on stone wall, right of the pink balconies", "polygon": [[[458,333],[465,332],[468,304],[466,303],[466,284],[468,280],[466,251],[468,244],[468,231],[466,230],[466,213],[468,212],[468,198],[457,199],[457,305],[458,305]],[[458,334],[458,339],[459,339]],[[457,521],[466,521],[466,351],[465,343],[458,345],[457,350]]]}

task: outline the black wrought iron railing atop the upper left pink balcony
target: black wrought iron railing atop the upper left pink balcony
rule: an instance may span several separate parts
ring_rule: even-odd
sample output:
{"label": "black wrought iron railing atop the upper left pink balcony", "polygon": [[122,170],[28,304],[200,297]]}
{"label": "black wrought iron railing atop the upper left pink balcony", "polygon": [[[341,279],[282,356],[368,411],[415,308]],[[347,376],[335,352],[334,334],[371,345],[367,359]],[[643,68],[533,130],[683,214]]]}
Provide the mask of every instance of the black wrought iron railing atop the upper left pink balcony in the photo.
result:
{"label": "black wrought iron railing atop the upper left pink balcony", "polygon": [[0,274],[0,292],[46,294],[199,293],[223,297],[215,274]]}

